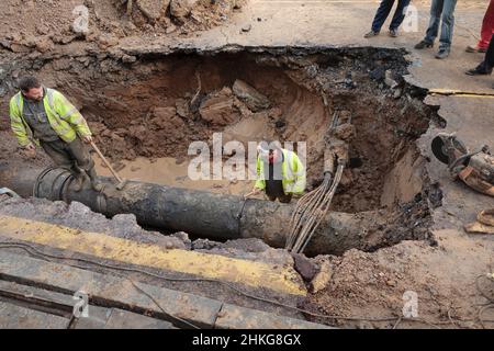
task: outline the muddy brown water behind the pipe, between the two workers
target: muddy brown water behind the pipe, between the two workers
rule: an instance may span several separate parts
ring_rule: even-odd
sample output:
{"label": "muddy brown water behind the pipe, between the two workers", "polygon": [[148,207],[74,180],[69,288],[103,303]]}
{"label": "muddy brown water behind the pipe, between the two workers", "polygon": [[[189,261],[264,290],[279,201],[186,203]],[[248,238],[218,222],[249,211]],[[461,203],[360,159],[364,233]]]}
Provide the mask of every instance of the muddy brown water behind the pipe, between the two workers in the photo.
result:
{"label": "muddy brown water behind the pipe, between the two workers", "polygon": [[[112,177],[110,170],[97,157],[94,158],[98,174]],[[138,157],[132,161],[122,161],[124,168],[119,170],[120,177],[161,185],[205,190],[222,194],[242,195],[250,192],[252,181],[229,180],[192,180],[188,177],[188,161],[177,163],[172,157],[147,159]]]}

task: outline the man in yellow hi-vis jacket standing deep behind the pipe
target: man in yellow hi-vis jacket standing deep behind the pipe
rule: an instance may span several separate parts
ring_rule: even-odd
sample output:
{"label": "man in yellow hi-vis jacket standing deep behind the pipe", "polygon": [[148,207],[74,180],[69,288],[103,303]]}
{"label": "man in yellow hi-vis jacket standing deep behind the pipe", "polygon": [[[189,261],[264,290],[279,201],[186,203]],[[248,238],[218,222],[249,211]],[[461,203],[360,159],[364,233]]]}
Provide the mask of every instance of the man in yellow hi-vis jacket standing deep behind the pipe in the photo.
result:
{"label": "man in yellow hi-vis jacket standing deep behind the pipe", "polygon": [[290,203],[293,194],[305,190],[305,168],[295,152],[282,149],[277,141],[262,141],[258,147],[257,181],[249,197],[265,191],[270,201]]}

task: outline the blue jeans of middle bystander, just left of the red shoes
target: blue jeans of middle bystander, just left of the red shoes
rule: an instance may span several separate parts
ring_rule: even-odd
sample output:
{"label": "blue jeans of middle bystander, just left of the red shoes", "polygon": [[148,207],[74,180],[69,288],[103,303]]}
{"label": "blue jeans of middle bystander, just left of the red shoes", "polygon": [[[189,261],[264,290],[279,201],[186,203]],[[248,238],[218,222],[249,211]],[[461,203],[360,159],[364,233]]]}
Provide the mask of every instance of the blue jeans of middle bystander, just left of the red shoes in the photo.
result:
{"label": "blue jeans of middle bystander, just left of the red shoes", "polygon": [[439,23],[442,20],[439,48],[449,49],[451,47],[456,5],[457,0],[433,0],[430,4],[429,27],[424,38],[425,42],[429,44],[434,43],[439,32]]}

